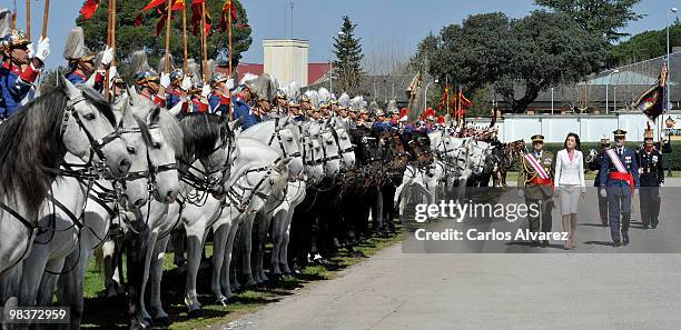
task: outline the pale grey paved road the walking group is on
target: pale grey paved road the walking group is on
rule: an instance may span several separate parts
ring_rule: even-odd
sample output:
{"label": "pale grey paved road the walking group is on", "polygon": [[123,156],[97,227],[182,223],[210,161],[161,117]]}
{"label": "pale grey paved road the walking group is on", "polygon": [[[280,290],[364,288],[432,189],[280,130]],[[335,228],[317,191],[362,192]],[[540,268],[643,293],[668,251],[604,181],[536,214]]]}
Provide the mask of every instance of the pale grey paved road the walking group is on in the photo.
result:
{"label": "pale grey paved road the walking group is on", "polygon": [[619,249],[588,244],[609,231],[582,220],[578,252],[590,253],[405,253],[408,242],[397,244],[221,328],[681,329],[681,254],[621,253],[681,247],[678,214],[655,231],[632,228],[632,244]]}

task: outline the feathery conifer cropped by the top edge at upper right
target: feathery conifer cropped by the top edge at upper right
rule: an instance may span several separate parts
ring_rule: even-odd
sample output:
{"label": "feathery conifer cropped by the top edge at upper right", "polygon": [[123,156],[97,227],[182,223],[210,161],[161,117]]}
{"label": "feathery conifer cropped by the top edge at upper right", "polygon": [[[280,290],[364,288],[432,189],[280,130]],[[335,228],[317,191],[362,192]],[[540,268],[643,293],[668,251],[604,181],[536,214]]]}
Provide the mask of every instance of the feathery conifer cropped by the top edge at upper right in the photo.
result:
{"label": "feathery conifer cropped by the top edge at upper right", "polygon": [[608,46],[629,34],[620,32],[643,16],[633,11],[641,0],[534,0],[539,6],[573,18],[592,36],[601,36]]}

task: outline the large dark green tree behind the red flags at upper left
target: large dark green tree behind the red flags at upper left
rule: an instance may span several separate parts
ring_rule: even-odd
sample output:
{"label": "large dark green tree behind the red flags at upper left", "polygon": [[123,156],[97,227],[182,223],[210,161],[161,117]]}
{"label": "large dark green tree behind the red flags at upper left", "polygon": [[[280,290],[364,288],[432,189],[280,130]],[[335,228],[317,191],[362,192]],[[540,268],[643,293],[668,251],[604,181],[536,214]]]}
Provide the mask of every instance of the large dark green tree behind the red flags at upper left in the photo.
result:
{"label": "large dark green tree behind the red flags at upper left", "polygon": [[[101,1],[99,9],[92,18],[85,20],[82,16],[76,19],[76,23],[82,27],[85,31],[86,46],[95,51],[103,50],[107,43],[108,31],[108,1]],[[160,18],[160,13],[156,10],[149,10],[144,14],[142,26],[135,27],[135,17],[148,3],[145,1],[117,1],[116,4],[116,54],[119,61],[126,62],[127,56],[145,49],[149,56],[149,62],[152,68],[156,68],[160,57],[166,51],[166,29],[162,29],[160,36],[156,36],[156,23]],[[191,34],[191,1],[187,3],[187,52],[189,58],[199,60],[200,53],[200,33],[199,36]],[[248,17],[246,10],[238,0],[234,1],[237,8],[238,21],[233,21],[233,64],[236,64],[241,59],[241,53],[247,51],[253,43],[250,37],[250,27],[248,27]],[[210,34],[208,37],[208,58],[215,59],[218,50],[227,49],[227,33],[217,31],[219,16],[223,10],[223,1],[206,1],[206,12],[213,17]],[[182,44],[182,13],[181,11],[172,12],[172,23],[170,31],[170,53],[175,59],[175,64],[182,67],[184,44]]]}

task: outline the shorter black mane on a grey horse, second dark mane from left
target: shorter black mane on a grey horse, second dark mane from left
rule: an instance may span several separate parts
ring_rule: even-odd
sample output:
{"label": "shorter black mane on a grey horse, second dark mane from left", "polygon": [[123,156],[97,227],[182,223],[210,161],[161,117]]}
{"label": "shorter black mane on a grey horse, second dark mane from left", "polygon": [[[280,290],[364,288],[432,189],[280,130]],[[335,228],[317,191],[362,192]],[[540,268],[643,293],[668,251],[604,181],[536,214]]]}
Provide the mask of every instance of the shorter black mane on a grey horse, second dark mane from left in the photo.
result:
{"label": "shorter black mane on a grey horse, second dark mane from left", "polygon": [[229,122],[214,113],[191,112],[180,119],[185,136],[182,160],[206,158],[215,151],[215,144],[230,134]]}

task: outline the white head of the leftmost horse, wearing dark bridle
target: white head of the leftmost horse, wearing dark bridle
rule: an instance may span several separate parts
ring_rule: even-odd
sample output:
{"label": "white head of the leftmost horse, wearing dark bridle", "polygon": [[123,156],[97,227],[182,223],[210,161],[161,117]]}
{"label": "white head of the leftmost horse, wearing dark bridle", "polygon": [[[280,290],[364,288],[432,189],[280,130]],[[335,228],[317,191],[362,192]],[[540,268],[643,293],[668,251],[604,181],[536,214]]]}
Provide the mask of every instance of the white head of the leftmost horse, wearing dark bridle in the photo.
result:
{"label": "white head of the leftmost horse, wearing dark bridle", "polygon": [[77,88],[61,74],[58,76],[59,91],[66,97],[60,136],[63,146],[83,161],[103,163],[111,177],[122,178],[130,170],[131,159],[115,129],[111,107],[95,90]]}

